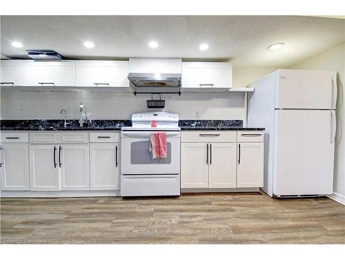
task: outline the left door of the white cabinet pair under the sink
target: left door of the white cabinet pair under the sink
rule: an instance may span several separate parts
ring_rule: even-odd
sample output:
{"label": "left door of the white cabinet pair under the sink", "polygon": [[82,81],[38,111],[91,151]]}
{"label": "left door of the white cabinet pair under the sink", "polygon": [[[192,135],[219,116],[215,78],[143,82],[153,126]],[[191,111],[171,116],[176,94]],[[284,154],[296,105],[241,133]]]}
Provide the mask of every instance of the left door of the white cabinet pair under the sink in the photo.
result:
{"label": "left door of the white cabinet pair under the sink", "polygon": [[59,146],[30,145],[30,190],[59,191]]}

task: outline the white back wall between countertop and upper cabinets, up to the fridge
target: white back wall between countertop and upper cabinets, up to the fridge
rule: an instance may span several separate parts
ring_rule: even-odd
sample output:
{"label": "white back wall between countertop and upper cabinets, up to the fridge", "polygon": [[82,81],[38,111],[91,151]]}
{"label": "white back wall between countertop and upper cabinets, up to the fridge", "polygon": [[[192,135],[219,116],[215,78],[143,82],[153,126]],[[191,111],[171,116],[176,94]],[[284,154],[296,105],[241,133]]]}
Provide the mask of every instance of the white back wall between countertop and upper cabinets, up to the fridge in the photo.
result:
{"label": "white back wall between countertop and upper cabinets, up to the fridge", "polygon": [[[234,87],[246,87],[275,68],[234,68]],[[182,93],[162,95],[165,111],[179,113],[181,119],[243,119],[246,123],[246,102],[242,93]],[[68,118],[77,119],[80,102],[92,119],[130,119],[139,111],[148,111],[150,95],[132,93],[61,93],[21,92],[1,89],[1,119],[60,119],[61,109]],[[199,118],[195,117],[199,111]]]}

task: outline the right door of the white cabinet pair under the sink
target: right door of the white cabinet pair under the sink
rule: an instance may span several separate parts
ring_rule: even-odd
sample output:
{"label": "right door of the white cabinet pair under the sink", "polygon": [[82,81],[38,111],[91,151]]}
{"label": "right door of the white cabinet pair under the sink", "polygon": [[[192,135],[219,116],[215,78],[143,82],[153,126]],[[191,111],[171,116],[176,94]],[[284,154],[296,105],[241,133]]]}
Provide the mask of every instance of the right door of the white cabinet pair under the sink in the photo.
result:
{"label": "right door of the white cabinet pair under the sink", "polygon": [[88,144],[59,146],[58,164],[61,172],[61,190],[89,190]]}

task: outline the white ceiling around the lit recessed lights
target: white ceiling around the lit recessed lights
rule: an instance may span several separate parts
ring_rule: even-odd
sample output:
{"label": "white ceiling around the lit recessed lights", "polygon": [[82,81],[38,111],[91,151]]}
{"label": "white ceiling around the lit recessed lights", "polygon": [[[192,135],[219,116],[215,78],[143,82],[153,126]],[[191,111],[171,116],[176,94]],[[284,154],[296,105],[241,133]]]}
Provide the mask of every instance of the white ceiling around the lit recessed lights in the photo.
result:
{"label": "white ceiling around the lit recessed lights", "polygon": [[[83,41],[92,41],[87,49]],[[148,48],[155,40],[159,48]],[[21,49],[11,46],[20,41]],[[286,67],[345,41],[345,19],[297,16],[2,16],[1,55],[52,49],[69,59],[182,57]],[[283,50],[266,47],[277,42]],[[199,44],[210,48],[201,52]]]}

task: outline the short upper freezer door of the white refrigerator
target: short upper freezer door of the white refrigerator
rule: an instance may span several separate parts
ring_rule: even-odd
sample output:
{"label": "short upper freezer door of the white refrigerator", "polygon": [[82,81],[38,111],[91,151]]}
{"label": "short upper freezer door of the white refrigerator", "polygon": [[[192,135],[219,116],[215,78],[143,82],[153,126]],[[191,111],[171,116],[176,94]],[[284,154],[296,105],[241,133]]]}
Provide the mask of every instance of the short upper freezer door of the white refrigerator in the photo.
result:
{"label": "short upper freezer door of the white refrigerator", "polygon": [[275,108],[335,109],[335,72],[279,69],[275,85]]}

